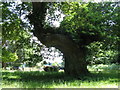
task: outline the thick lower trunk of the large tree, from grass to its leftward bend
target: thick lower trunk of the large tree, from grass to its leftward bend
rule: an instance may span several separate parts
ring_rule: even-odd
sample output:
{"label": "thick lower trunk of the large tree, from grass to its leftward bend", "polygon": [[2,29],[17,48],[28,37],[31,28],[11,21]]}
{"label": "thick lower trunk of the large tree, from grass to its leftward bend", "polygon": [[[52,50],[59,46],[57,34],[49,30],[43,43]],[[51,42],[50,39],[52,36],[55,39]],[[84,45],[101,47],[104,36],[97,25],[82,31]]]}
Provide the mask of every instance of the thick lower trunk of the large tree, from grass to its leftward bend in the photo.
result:
{"label": "thick lower trunk of the large tree, from grass to its leftward bend", "polygon": [[85,75],[88,73],[86,53],[69,37],[60,34],[44,34],[44,38],[35,31],[38,39],[47,47],[56,47],[61,50],[65,58],[65,73],[72,76]]}

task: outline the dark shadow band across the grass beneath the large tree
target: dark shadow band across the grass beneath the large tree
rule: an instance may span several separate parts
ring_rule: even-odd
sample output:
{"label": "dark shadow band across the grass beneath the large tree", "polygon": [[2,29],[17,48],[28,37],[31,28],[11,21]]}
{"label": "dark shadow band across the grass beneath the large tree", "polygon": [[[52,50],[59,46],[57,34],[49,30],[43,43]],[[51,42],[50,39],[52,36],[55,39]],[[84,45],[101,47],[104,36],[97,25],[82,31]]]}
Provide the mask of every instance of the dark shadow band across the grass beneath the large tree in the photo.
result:
{"label": "dark shadow band across the grass beneath the large tree", "polygon": [[91,73],[84,77],[74,78],[65,75],[63,72],[2,72],[3,81],[11,83],[22,82],[23,87],[50,87],[52,85],[59,85],[65,83],[79,82],[76,85],[79,86],[82,82],[99,82],[106,81],[118,82],[117,73]]}

